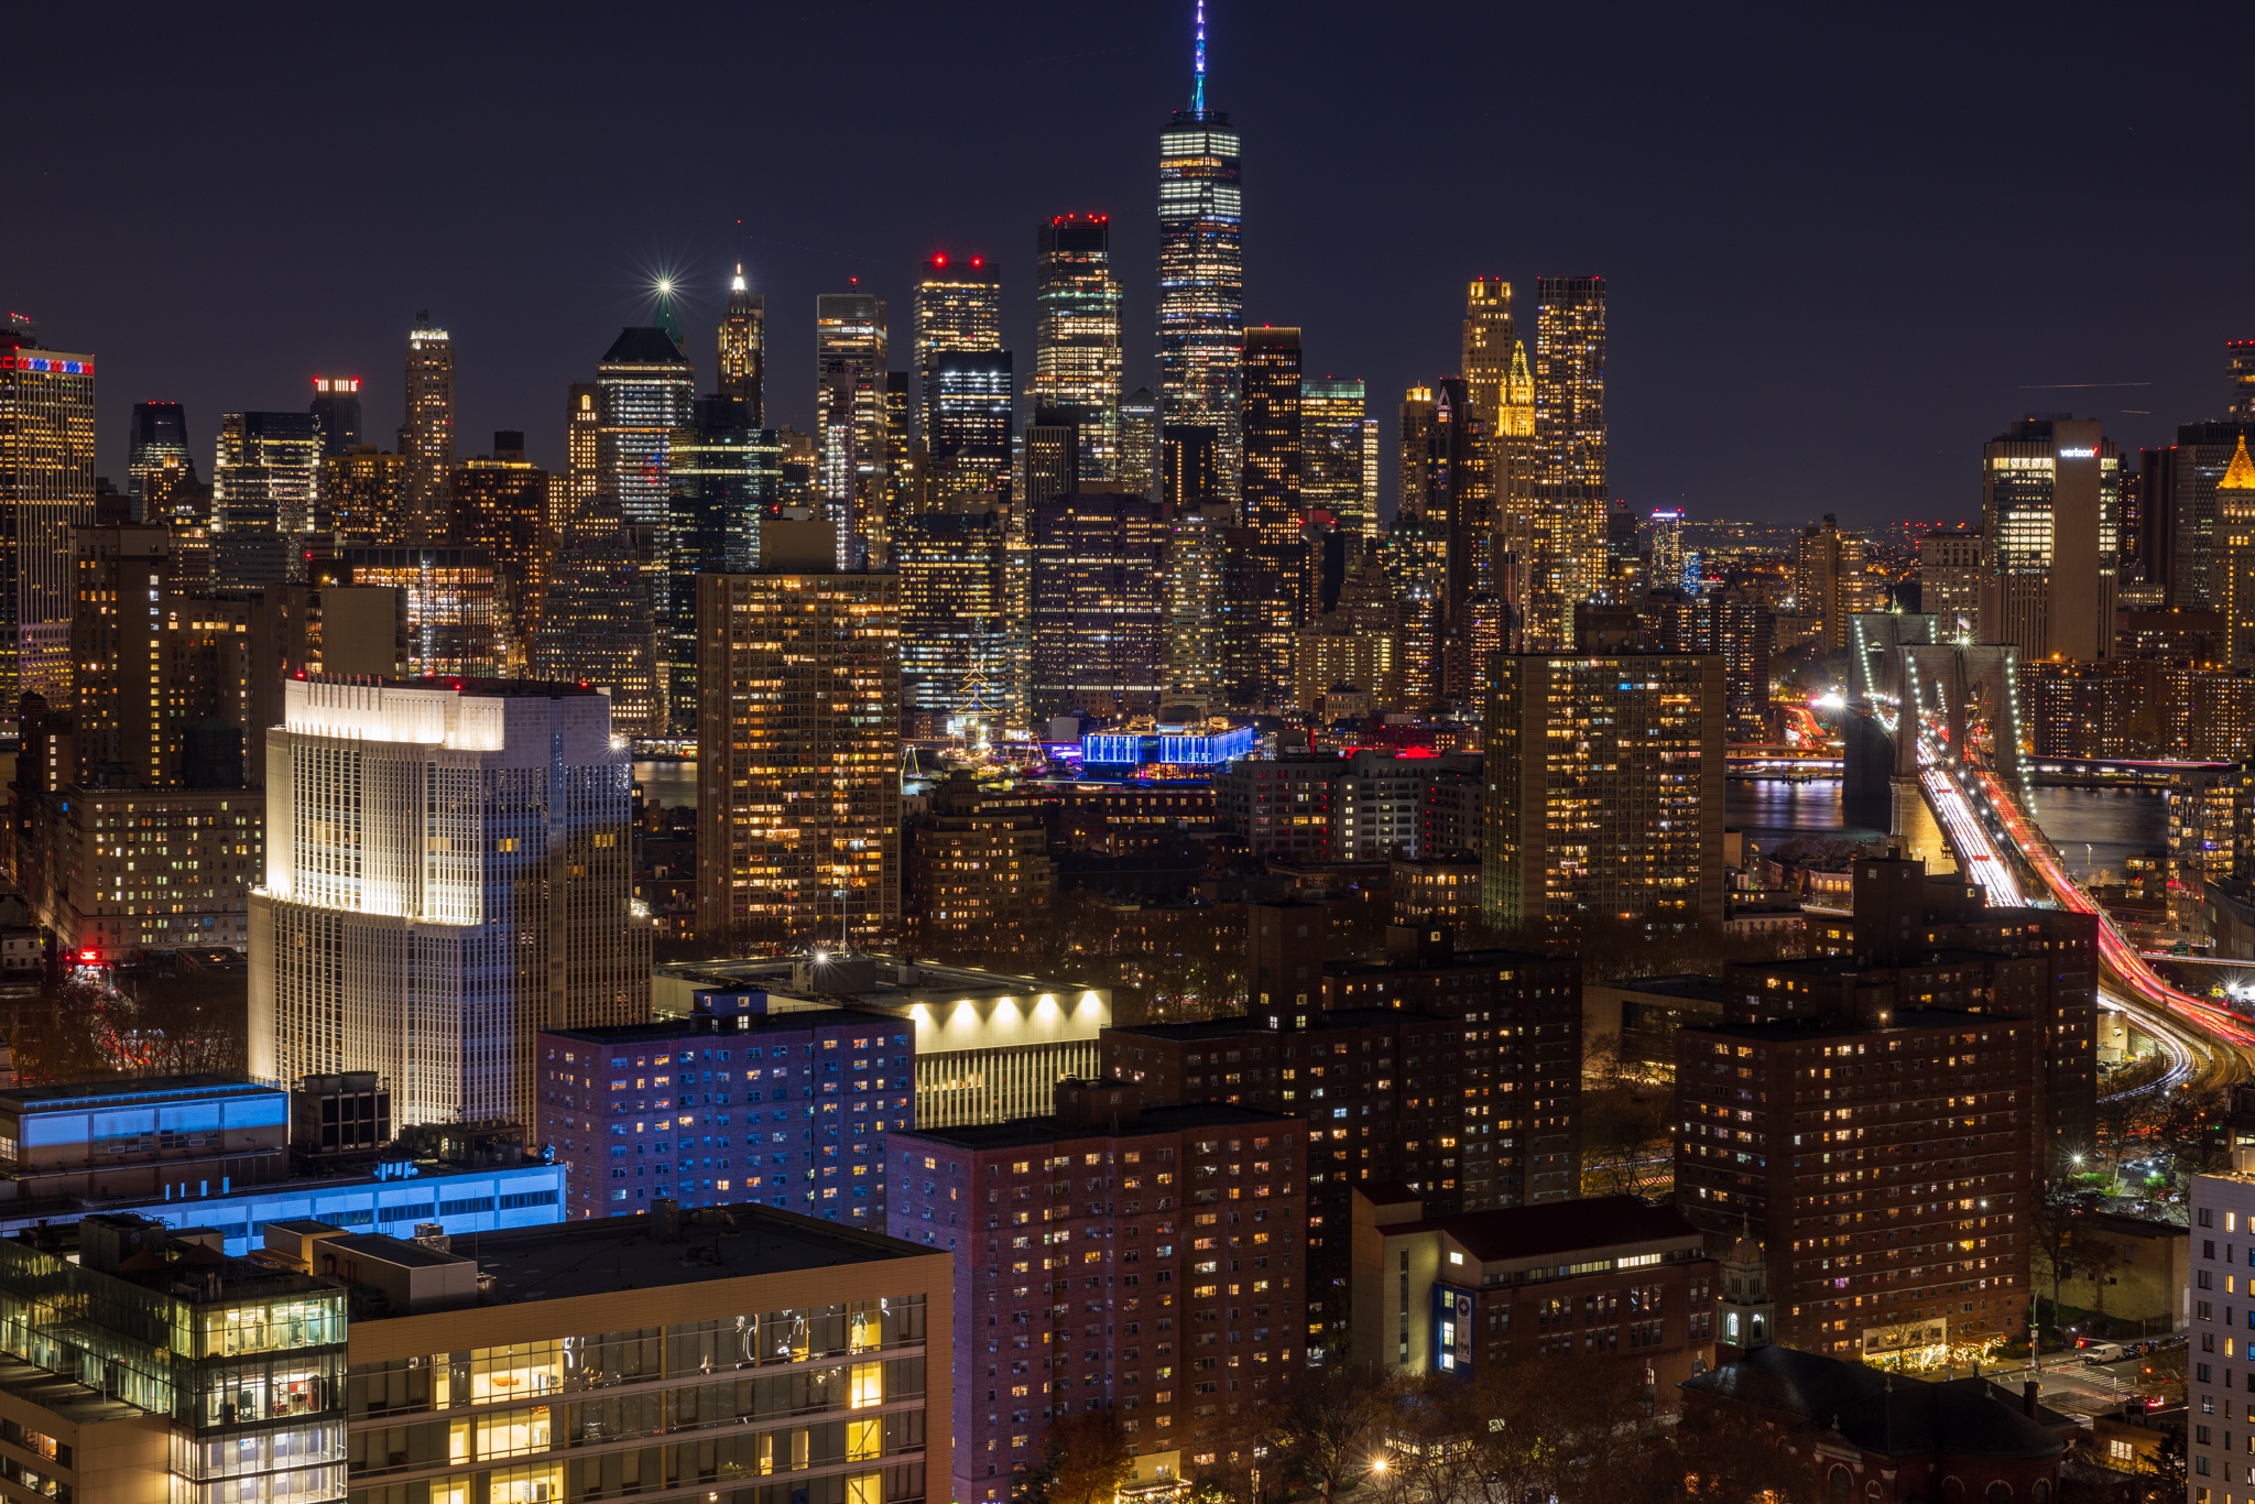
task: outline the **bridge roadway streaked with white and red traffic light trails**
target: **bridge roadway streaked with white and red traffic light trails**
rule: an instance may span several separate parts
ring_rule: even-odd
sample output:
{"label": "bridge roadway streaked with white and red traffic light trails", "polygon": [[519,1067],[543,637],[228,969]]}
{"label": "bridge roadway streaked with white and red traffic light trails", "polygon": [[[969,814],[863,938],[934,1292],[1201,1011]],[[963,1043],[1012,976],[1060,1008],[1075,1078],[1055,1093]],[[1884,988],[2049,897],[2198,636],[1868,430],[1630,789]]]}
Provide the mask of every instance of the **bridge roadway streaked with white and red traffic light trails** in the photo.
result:
{"label": "bridge roadway streaked with white and red traffic light trails", "polygon": [[[2102,1006],[2131,1015],[2169,1053],[2172,1069],[2156,1087],[2192,1078],[2255,1076],[2255,1026],[2205,997],[2172,988],[2154,972],[2106,911],[2075,886],[2052,843],[2023,814],[2002,780],[1942,755],[1921,762],[1919,782],[1926,803],[1948,834],[1960,866],[1987,888],[1991,904],[2025,904],[2027,893],[2018,873],[2027,870],[2061,909],[2097,918]],[[2005,846],[1998,843],[1998,834]]]}

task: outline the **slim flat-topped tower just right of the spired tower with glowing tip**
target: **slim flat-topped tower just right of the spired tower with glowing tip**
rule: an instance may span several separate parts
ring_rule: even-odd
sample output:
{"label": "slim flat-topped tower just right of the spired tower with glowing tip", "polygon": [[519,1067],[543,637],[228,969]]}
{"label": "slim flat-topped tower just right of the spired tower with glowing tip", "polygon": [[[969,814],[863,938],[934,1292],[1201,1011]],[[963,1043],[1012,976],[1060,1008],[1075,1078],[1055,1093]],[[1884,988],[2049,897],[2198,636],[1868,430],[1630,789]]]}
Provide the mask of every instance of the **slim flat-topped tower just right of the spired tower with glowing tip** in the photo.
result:
{"label": "slim flat-topped tower just right of the spired tower with glowing tip", "polygon": [[888,336],[884,298],[814,298],[814,413],[821,431],[816,492],[839,534],[839,568],[868,557],[891,505],[886,444]]}

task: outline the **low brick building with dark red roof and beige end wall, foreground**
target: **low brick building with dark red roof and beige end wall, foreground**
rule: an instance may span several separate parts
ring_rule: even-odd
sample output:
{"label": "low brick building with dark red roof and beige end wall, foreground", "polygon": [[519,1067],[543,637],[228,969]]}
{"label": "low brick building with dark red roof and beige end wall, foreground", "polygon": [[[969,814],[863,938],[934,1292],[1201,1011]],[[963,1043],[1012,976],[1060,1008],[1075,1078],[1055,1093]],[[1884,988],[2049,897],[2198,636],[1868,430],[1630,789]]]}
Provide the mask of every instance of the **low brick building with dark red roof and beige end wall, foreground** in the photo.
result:
{"label": "low brick building with dark red roof and beige end wall, foreground", "polygon": [[1409,1186],[1353,1202],[1353,1362],[1477,1375],[1529,1357],[1621,1357],[1675,1384],[1714,1351],[1718,1265],[1671,1206],[1599,1195],[1427,1218]]}

